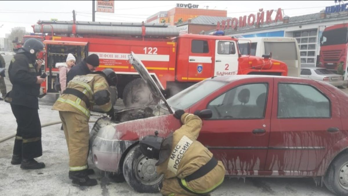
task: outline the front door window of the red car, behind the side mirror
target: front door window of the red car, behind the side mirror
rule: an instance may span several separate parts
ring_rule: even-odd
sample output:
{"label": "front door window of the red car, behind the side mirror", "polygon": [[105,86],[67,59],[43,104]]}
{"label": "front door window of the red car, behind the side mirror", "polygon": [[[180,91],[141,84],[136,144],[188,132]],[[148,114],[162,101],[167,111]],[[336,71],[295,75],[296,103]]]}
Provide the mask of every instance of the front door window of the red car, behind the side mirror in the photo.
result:
{"label": "front door window of the red car, behind the side mirror", "polygon": [[267,83],[244,84],[213,99],[207,106],[210,119],[259,119],[264,118]]}

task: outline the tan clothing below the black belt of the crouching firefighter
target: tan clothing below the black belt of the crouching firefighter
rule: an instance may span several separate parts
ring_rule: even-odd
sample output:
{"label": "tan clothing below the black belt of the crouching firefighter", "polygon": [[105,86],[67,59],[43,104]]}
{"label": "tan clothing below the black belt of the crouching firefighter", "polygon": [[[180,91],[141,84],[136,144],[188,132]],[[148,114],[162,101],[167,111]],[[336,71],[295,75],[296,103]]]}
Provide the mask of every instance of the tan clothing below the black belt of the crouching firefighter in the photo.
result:
{"label": "tan clothing below the black belt of the crouching firefighter", "polygon": [[[184,196],[184,195],[209,195],[217,189],[223,182],[225,176],[225,168],[221,161],[204,176],[186,182],[179,178],[163,179],[159,185],[162,195],[165,196]],[[213,183],[211,187],[207,184]]]}

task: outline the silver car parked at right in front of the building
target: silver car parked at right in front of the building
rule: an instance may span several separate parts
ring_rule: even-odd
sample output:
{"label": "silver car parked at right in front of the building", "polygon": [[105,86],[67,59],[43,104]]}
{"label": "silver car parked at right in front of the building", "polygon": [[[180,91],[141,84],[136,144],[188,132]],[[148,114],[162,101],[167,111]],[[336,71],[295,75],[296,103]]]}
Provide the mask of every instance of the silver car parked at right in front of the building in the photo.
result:
{"label": "silver car parked at right in front of the building", "polygon": [[343,85],[343,76],[335,74],[332,71],[325,68],[319,68],[319,67],[301,68],[300,77],[327,82],[334,86]]}

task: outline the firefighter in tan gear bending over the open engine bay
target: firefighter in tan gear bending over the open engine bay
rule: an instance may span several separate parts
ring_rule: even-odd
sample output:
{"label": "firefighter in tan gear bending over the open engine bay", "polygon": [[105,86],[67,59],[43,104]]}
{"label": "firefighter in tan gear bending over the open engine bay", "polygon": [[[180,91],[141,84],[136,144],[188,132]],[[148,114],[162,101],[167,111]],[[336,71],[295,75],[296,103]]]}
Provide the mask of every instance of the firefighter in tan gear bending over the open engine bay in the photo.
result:
{"label": "firefighter in tan gear bending over the open engine bay", "polygon": [[57,99],[52,110],[58,110],[63,123],[64,134],[69,151],[69,178],[75,186],[94,186],[94,174],[88,169],[88,142],[90,109],[96,104],[113,117],[110,86],[116,86],[117,76],[114,71],[96,71],[84,76],[75,76],[68,83],[65,91]]}

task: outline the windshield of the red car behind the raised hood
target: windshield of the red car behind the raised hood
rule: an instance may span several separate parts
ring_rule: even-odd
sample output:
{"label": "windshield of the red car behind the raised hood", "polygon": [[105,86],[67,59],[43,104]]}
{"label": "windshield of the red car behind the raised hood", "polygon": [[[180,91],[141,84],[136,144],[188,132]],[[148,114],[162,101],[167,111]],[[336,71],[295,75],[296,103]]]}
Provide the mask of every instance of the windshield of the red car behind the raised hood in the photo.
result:
{"label": "windshield of the red car behind the raised hood", "polygon": [[174,110],[184,110],[226,84],[221,81],[204,80],[177,93],[167,102]]}

